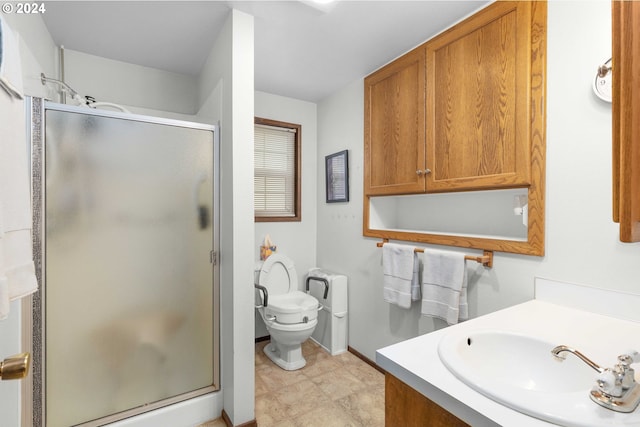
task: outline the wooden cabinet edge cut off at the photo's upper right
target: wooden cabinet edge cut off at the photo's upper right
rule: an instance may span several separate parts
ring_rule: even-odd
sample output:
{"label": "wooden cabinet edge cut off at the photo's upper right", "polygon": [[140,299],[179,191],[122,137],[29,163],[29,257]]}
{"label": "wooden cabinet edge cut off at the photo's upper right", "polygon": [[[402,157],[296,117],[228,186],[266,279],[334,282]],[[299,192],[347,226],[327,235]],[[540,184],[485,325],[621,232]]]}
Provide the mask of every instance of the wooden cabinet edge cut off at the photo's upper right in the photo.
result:
{"label": "wooden cabinet edge cut off at the photo's upper right", "polygon": [[640,2],[612,1],[613,218],[640,242]]}

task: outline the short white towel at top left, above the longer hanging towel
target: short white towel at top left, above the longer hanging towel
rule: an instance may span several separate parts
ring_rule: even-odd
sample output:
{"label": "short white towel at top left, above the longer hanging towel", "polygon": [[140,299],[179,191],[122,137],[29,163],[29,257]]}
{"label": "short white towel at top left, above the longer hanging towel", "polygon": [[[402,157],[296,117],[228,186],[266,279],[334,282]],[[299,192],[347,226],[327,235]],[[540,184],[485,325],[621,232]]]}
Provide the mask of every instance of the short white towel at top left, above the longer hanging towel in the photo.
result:
{"label": "short white towel at top left, above the longer hanging towel", "polygon": [[22,99],[22,65],[18,38],[0,15],[0,86],[7,93]]}

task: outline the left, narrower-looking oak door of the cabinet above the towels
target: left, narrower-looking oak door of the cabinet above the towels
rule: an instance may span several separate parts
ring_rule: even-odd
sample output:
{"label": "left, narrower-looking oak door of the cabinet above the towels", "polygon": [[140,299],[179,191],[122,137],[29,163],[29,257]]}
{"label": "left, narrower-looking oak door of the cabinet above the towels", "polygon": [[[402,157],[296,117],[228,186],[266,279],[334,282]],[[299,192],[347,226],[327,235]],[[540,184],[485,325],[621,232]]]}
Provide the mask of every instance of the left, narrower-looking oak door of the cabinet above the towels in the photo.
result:
{"label": "left, narrower-looking oak door of the cabinet above the towels", "polygon": [[364,89],[365,194],[423,192],[424,48],[368,76]]}

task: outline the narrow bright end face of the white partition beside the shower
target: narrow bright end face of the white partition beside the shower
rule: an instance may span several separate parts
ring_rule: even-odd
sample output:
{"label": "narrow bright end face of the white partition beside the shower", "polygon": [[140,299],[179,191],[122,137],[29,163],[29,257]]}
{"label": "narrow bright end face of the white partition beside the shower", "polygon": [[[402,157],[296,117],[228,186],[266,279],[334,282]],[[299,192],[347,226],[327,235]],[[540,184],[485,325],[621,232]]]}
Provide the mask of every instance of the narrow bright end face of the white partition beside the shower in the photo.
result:
{"label": "narrow bright end face of the white partition beside the shower", "polygon": [[[253,318],[253,268],[247,262],[253,253],[253,16],[233,10],[233,55],[231,85],[232,114],[229,116],[233,125],[232,159],[233,181],[226,191],[231,192],[232,210],[227,210],[230,215],[226,219],[222,217],[221,228],[231,226],[231,235],[225,239],[224,232],[221,238],[232,246],[233,268],[233,346],[226,345],[223,348],[223,375],[225,370],[232,365],[230,377],[232,385],[224,390],[224,407],[234,425],[241,425],[255,419],[254,400],[247,396],[254,395],[254,318]],[[228,93],[228,92],[225,92]],[[228,122],[228,121],[227,121]],[[224,132],[224,130],[223,130]],[[224,134],[223,134],[224,135]],[[249,157],[249,158],[247,158]],[[224,156],[222,161],[225,161]],[[223,175],[221,185],[224,186]],[[227,199],[228,200],[228,199]],[[223,210],[224,208],[223,190]],[[221,254],[221,262],[225,263],[224,252]],[[226,267],[225,267],[226,268]],[[225,282],[222,282],[225,286]],[[221,301],[222,311],[228,311],[225,299]],[[228,314],[227,314],[228,315]],[[225,325],[221,325],[223,330]],[[230,359],[232,358],[232,359]],[[227,387],[226,383],[223,383]]]}

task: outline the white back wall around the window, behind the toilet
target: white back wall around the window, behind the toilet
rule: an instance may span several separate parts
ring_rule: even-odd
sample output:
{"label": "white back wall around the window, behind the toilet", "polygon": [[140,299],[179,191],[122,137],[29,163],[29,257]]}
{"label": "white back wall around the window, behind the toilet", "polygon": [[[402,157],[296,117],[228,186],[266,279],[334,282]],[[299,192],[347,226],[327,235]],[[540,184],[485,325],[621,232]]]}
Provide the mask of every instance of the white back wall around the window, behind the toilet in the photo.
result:
{"label": "white back wall around the window, behind the toilet", "polygon": [[[316,266],[317,191],[316,171],[321,166],[317,157],[316,104],[264,92],[255,93],[255,116],[302,126],[302,221],[256,222],[254,257],[260,259],[259,247],[269,234],[278,252],[293,260],[300,289],[303,276]],[[324,170],[324,168],[323,168]],[[324,194],[324,193],[323,193]],[[256,337],[268,335],[264,322],[256,312]]]}

